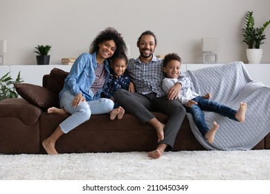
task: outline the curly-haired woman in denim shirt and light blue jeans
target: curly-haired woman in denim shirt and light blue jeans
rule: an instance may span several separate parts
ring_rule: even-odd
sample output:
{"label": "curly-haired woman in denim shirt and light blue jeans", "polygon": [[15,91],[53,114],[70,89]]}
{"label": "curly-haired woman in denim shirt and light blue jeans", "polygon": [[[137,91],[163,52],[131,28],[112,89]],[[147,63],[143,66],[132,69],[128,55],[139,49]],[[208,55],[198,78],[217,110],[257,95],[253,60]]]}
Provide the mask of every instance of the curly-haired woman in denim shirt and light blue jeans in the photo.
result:
{"label": "curly-haired woman in denim shirt and light blue jeans", "polygon": [[108,60],[118,53],[126,53],[127,46],[120,33],[114,28],[101,31],[90,46],[89,53],[83,53],[75,60],[69,76],[60,91],[60,107],[48,109],[48,113],[69,112],[56,130],[42,142],[48,155],[58,155],[55,150],[57,139],[88,121],[91,114],[105,114],[114,108],[114,102],[100,98],[100,93],[109,80]]}

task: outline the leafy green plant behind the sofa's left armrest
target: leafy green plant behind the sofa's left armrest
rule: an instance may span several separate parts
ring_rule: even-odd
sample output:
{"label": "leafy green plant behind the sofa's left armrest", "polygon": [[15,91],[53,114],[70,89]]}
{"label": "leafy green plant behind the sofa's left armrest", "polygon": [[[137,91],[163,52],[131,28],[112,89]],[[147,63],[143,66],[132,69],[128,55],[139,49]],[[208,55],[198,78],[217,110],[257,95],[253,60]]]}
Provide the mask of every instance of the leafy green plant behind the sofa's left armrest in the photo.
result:
{"label": "leafy green plant behind the sofa's left armrest", "polygon": [[24,82],[21,79],[21,71],[19,71],[16,80],[13,80],[8,74],[10,74],[10,72],[0,78],[0,100],[6,98],[18,98],[19,95],[13,84]]}

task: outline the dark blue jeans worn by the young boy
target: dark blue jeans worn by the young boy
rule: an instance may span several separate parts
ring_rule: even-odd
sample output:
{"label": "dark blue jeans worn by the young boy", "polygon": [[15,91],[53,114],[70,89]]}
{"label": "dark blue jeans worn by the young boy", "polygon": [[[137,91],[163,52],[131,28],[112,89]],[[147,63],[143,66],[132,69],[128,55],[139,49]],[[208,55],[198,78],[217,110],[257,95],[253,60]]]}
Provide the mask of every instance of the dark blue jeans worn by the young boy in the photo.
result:
{"label": "dark blue jeans worn by the young boy", "polygon": [[192,105],[192,107],[186,107],[187,112],[190,112],[193,116],[193,119],[199,129],[199,132],[201,132],[201,135],[205,137],[206,132],[208,132],[209,127],[206,125],[206,121],[204,118],[204,112],[203,110],[210,111],[210,112],[217,112],[219,114],[222,114],[223,116],[227,116],[228,118],[231,118],[235,121],[238,121],[235,118],[236,110],[231,109],[230,107],[226,107],[225,105],[222,105],[222,103],[215,102],[213,100],[209,100],[206,98],[203,98],[201,96],[197,96],[196,98],[193,98],[195,102],[197,102],[197,105]]}

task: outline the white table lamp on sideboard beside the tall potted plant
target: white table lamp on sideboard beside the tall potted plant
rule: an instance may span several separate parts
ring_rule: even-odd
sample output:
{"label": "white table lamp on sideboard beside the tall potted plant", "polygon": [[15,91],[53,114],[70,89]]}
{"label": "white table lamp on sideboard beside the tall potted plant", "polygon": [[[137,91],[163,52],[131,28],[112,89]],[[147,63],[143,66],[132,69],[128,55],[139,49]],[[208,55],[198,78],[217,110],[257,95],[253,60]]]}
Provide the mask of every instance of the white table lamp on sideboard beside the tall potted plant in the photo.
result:
{"label": "white table lamp on sideboard beside the tall potted plant", "polygon": [[217,63],[217,53],[219,51],[219,38],[202,38],[201,51],[203,52],[203,63]]}

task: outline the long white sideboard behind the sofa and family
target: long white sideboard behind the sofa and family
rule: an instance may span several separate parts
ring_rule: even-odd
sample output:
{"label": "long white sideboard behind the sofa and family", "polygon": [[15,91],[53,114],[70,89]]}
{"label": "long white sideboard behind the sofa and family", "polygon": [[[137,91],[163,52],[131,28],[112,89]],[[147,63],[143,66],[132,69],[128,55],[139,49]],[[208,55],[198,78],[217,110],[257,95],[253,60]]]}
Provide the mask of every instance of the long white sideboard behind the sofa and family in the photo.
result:
{"label": "long white sideboard behind the sofa and family", "polygon": [[[222,64],[181,64],[182,71],[201,69],[204,67],[218,66]],[[264,85],[270,86],[270,64],[245,64],[249,76],[252,80],[260,81]],[[21,65],[8,65],[0,66],[0,78],[6,73],[10,72],[10,76],[13,79],[17,78],[19,71],[21,72],[21,78],[25,83],[42,86],[42,78],[44,74],[50,73],[51,69],[58,68],[64,71],[70,71],[71,65],[63,64],[49,64],[49,65],[37,65],[37,64],[21,64]]]}

